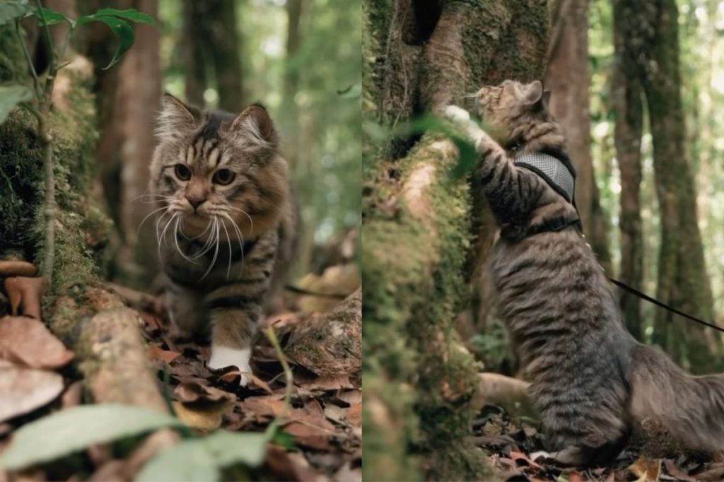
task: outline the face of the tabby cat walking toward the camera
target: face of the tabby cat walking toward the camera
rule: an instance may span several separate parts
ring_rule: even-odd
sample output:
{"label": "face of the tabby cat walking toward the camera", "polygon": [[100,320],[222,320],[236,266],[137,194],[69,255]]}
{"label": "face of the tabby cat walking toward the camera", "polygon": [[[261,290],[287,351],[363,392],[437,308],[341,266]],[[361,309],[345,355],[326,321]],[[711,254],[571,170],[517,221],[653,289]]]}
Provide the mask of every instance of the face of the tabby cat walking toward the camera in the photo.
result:
{"label": "face of the tabby cat walking toward the camera", "polygon": [[161,227],[249,239],[276,223],[287,197],[287,164],[264,107],[233,116],[165,96],[158,135],[151,192],[166,207]]}

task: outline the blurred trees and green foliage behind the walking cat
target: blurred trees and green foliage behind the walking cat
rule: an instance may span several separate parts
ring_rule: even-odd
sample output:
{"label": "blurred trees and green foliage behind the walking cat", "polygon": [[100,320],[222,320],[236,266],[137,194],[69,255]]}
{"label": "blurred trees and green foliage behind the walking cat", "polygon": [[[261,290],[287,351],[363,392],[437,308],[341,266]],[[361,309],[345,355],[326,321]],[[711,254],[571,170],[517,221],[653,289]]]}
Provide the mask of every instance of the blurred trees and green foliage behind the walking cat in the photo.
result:
{"label": "blurred trees and green foliage behind the walking cat", "polygon": [[98,25],[88,35],[101,124],[97,193],[117,228],[111,279],[144,287],[156,271],[149,249],[153,223],[146,221],[138,232],[153,205],[138,196],[148,193],[153,119],[164,90],[209,109],[237,112],[255,101],[267,106],[282,135],[303,217],[295,274],[311,271],[315,250],[358,224],[358,14],[330,0],[59,3],[81,14],[136,8],[158,20],[155,27],[137,26],[135,46],[109,71],[99,67],[115,48],[111,33]]}

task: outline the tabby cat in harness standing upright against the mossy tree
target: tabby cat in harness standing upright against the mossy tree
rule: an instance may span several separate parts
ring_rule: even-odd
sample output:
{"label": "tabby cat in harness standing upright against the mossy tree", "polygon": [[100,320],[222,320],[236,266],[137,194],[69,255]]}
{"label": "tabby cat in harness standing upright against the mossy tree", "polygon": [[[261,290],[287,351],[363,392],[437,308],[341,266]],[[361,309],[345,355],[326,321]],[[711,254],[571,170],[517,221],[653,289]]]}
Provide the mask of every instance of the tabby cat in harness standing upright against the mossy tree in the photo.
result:
{"label": "tabby cat in harness standing upright against the mossy tree", "polygon": [[538,81],[479,90],[477,113],[500,143],[463,109],[450,106],[447,116],[481,155],[476,176],[500,227],[489,260],[497,308],[548,448],[565,464],[602,463],[631,434],[657,427],[679,447],[721,450],[724,376],[691,376],[631,337],[581,234],[572,193],[521,162],[550,156],[575,177],[545,94]]}

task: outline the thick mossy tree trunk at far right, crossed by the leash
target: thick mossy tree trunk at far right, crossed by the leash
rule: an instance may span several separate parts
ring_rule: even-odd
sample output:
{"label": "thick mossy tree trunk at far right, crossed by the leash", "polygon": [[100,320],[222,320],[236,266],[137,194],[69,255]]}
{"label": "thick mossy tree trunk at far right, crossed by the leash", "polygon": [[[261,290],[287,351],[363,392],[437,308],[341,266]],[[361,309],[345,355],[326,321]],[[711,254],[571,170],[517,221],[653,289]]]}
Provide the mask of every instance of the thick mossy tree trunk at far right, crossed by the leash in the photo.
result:
{"label": "thick mossy tree trunk at far right, crossed by the leash", "polygon": [[[710,280],[696,213],[696,186],[686,150],[681,100],[678,7],[675,0],[617,0],[635,63],[628,75],[641,83],[654,145],[661,246],[656,295],[687,313],[712,319]],[[682,343],[683,341],[683,343]],[[721,340],[666,310],[657,310],[654,342],[694,371],[717,368]]]}

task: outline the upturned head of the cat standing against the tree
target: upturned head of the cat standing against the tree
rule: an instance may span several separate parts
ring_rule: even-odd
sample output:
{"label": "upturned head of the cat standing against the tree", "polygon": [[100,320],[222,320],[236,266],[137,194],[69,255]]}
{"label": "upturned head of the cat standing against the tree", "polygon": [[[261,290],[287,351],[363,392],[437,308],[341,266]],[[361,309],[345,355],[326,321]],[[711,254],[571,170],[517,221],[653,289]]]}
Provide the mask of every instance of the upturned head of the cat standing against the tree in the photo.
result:
{"label": "upturned head of the cat standing against the tree", "polygon": [[500,85],[486,85],[476,93],[477,113],[498,140],[508,140],[523,122],[543,114],[549,93],[539,80],[529,84],[505,80]]}

